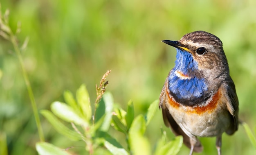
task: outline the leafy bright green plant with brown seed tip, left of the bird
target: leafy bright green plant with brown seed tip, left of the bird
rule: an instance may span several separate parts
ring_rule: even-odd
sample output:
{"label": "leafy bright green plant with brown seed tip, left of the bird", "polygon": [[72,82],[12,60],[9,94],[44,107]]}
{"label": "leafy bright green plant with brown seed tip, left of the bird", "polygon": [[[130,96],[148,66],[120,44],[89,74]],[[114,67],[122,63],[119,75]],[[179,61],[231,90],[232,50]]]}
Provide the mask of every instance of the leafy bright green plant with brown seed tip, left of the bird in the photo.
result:
{"label": "leafy bright green plant with brown seed tip, left of the bird", "polygon": [[[129,101],[127,111],[121,108],[113,108],[114,100],[112,95],[106,91],[108,81],[106,77],[110,71],[104,74],[99,87],[97,88],[97,99],[94,103],[94,114],[90,98],[85,85],[76,91],[76,100],[71,92],[65,91],[64,98],[66,103],[54,102],[51,111],[42,110],[41,114],[47,118],[54,129],[69,138],[70,140],[83,140],[86,144],[85,149],[93,154],[98,147],[105,147],[113,155],[150,155],[151,148],[148,139],[144,136],[147,125],[153,118],[158,107],[158,100],[153,102],[148,108],[146,116],[139,115],[134,117],[134,107]],[[106,81],[106,82],[105,82]],[[102,100],[101,100],[102,98]],[[66,127],[58,118],[71,123],[72,128]],[[127,148],[125,149],[117,140],[108,134],[110,124],[126,135]],[[157,142],[155,155],[175,155],[182,146],[182,137],[167,142],[165,132],[162,131],[162,138]],[[40,155],[69,154],[67,151],[54,146],[53,144],[38,142],[36,149]]]}

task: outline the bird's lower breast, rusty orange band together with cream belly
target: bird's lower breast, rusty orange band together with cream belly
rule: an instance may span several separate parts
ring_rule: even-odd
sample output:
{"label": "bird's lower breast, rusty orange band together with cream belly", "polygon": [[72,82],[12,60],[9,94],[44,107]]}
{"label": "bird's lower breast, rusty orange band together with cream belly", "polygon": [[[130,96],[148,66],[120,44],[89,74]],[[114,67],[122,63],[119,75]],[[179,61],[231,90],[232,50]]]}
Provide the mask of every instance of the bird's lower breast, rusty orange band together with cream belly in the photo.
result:
{"label": "bird's lower breast, rusty orange band together with cream belly", "polygon": [[191,107],[176,102],[166,89],[166,107],[175,122],[190,137],[216,136],[226,131],[230,124],[227,100],[223,93],[225,91],[220,87],[206,103]]}

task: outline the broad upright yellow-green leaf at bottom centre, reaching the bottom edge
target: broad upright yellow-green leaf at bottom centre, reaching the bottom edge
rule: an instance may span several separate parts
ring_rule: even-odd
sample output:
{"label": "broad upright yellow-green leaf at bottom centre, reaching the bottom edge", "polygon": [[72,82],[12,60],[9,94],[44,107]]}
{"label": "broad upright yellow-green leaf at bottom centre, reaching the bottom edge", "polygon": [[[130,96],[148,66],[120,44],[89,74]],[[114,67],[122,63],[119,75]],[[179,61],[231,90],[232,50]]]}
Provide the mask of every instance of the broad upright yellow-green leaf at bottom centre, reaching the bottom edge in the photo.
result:
{"label": "broad upright yellow-green leaf at bottom centre, reaching the bottom edge", "polygon": [[137,116],[129,130],[129,146],[133,155],[150,155],[150,144],[143,136],[146,130],[146,122],[142,115]]}

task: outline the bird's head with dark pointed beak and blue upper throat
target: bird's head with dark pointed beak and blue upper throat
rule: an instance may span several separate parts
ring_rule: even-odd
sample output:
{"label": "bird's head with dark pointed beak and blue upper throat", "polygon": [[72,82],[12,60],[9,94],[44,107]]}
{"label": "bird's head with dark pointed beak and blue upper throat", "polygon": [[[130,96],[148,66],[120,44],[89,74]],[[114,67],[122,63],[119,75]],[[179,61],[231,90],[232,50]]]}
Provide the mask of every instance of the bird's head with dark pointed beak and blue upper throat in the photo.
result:
{"label": "bird's head with dark pointed beak and blue upper throat", "polygon": [[215,78],[223,73],[229,74],[222,42],[211,33],[195,31],[184,35],[178,41],[162,42],[176,48],[177,59],[174,70],[183,75]]}

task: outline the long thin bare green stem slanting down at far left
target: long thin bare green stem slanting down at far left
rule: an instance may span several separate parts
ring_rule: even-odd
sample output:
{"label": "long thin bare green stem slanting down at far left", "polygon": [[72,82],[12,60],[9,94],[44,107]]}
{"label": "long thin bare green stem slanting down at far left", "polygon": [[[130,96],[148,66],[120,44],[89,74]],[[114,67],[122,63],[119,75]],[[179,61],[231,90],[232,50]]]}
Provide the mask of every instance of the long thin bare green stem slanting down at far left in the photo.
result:
{"label": "long thin bare green stem slanting down at far left", "polygon": [[35,101],[35,98],[34,98],[34,94],[33,94],[29,79],[27,77],[27,72],[26,72],[25,67],[24,67],[24,62],[23,62],[23,59],[22,59],[22,56],[21,56],[21,52],[20,52],[20,49],[18,48],[18,43],[16,41],[16,37],[13,35],[12,32],[9,35],[10,35],[11,43],[13,44],[14,50],[15,50],[15,52],[18,56],[18,59],[20,61],[20,66],[21,66],[21,69],[22,69],[23,78],[24,78],[25,84],[27,86],[27,92],[29,94],[29,98],[30,98],[30,101],[31,101],[33,113],[34,113],[35,120],[36,120],[36,126],[37,126],[37,129],[38,129],[39,138],[40,138],[41,142],[44,142],[45,138],[44,138],[43,129],[42,129],[42,126],[41,126],[41,123],[40,123],[40,118],[39,118],[39,114],[38,114],[38,110],[37,110],[37,106],[36,106],[36,101]]}

